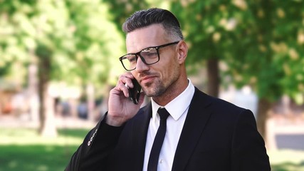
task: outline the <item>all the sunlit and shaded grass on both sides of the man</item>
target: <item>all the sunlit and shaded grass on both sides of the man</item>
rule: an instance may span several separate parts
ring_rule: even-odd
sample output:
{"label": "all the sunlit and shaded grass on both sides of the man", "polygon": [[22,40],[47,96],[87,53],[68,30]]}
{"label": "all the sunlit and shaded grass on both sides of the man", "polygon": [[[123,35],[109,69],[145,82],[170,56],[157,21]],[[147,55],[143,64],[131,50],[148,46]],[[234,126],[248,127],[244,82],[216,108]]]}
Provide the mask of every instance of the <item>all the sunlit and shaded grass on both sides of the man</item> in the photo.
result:
{"label": "all the sunlit and shaded grass on both sides of the man", "polygon": [[[0,171],[62,171],[88,131],[64,129],[57,138],[41,138],[33,129],[0,128]],[[273,171],[304,171],[304,151],[268,155]]]}

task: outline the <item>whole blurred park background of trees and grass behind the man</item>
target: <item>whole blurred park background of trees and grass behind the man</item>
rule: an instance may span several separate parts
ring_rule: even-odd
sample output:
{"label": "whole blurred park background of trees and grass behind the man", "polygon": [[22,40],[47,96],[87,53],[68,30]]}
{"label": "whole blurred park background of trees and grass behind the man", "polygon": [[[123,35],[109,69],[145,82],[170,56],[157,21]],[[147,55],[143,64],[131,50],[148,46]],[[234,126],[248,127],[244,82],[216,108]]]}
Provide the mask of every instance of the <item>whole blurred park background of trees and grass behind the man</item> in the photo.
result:
{"label": "whole blurred park background of trees and grass behind the man", "polygon": [[179,19],[194,85],[253,111],[272,170],[304,170],[303,0],[0,0],[0,170],[64,170],[150,7]]}

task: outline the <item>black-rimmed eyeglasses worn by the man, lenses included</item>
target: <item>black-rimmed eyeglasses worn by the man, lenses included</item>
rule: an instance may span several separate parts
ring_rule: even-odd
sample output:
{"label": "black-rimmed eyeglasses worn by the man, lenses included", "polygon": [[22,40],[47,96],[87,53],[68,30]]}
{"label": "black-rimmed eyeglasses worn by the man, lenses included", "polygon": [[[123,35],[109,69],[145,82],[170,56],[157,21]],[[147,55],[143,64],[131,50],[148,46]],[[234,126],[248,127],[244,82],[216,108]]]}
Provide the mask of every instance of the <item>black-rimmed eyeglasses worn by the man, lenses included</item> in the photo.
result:
{"label": "black-rimmed eyeglasses worn by the man, lenses included", "polygon": [[166,46],[171,46],[177,43],[179,43],[179,41],[163,44],[161,46],[144,48],[142,51],[139,51],[137,53],[127,53],[126,55],[120,57],[120,62],[127,71],[135,70],[138,56],[146,65],[152,65],[159,61],[159,48],[164,48]]}

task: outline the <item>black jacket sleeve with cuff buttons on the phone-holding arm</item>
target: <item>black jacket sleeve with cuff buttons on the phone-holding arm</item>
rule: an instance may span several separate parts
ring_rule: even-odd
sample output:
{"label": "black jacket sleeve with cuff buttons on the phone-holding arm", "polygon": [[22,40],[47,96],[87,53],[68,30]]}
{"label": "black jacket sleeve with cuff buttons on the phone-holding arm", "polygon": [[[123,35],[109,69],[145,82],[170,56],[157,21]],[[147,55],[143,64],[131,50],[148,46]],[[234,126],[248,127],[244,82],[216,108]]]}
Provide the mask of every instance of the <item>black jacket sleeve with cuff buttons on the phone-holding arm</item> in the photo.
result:
{"label": "black jacket sleeve with cuff buttons on the phone-holding arm", "polygon": [[107,160],[114,150],[123,127],[113,127],[101,120],[90,130],[73,154],[66,171],[106,170]]}

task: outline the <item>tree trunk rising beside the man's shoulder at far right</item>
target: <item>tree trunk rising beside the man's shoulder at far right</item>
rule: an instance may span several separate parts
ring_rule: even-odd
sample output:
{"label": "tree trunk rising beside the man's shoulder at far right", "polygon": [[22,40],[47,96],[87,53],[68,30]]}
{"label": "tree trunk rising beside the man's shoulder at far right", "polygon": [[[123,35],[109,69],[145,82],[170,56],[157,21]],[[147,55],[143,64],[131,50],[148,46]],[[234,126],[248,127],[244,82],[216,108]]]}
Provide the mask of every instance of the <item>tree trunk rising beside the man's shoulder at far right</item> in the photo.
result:
{"label": "tree trunk rising beside the man's shoulder at far right", "polygon": [[262,135],[264,140],[266,140],[266,121],[268,119],[268,112],[271,110],[271,102],[265,98],[258,100],[258,116],[257,116],[257,126],[258,132]]}

